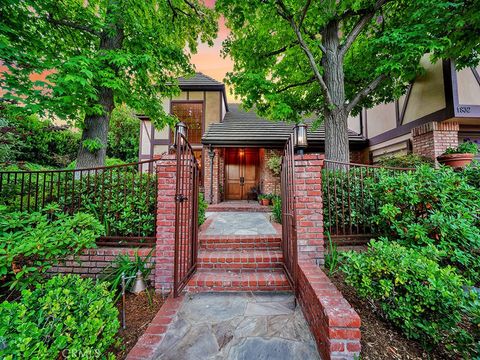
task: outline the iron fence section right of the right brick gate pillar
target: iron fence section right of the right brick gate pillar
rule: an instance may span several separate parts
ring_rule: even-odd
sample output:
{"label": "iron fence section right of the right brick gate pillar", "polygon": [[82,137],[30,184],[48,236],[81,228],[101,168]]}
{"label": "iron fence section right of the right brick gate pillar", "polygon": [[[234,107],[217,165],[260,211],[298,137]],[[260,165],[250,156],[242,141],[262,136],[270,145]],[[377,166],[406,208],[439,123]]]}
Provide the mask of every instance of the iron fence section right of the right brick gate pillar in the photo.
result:
{"label": "iron fence section right of the right brick gate pillar", "polygon": [[359,245],[378,236],[373,217],[379,199],[372,192],[379,176],[410,168],[380,167],[325,160],[322,170],[324,228],[339,245]]}

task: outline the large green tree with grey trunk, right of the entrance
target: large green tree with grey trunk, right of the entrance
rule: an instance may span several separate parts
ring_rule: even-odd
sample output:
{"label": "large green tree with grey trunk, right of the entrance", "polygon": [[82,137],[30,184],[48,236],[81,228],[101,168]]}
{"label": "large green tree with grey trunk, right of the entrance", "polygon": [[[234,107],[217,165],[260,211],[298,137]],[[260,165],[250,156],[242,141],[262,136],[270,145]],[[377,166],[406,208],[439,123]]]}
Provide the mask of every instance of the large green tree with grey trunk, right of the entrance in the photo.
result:
{"label": "large green tree with grey trunk, right of the entrance", "polygon": [[228,81],[247,108],[273,120],[316,114],[325,123],[326,158],[348,162],[349,114],[398,98],[421,73],[422,56],[450,49],[463,51],[465,63],[478,60],[471,52],[478,35],[464,39],[469,50],[449,41],[465,21],[475,23],[478,3],[219,0],[231,29]]}

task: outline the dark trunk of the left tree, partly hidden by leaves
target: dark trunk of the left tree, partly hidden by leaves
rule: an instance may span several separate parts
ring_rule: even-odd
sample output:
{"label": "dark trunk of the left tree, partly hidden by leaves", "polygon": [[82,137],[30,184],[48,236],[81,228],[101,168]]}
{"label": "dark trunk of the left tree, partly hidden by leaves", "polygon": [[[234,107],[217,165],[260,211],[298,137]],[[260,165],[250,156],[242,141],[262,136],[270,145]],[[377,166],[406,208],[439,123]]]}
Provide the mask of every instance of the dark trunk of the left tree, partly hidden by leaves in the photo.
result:
{"label": "dark trunk of the left tree, partly hidden by leaves", "polygon": [[[117,0],[110,0],[107,9],[108,19],[115,8]],[[103,32],[100,34],[99,51],[102,50],[118,50],[123,46],[124,32],[123,24],[112,22],[107,24]],[[117,69],[114,69],[117,71]],[[84,120],[84,128],[82,132],[82,143],[77,154],[77,169],[85,169],[99,167],[105,164],[107,154],[108,127],[110,123],[110,115],[115,107],[115,98],[113,90],[107,87],[98,87],[98,104],[101,105],[103,113],[101,115],[86,115]],[[102,143],[102,148],[95,152],[88,151],[83,146],[83,141],[98,139]]]}

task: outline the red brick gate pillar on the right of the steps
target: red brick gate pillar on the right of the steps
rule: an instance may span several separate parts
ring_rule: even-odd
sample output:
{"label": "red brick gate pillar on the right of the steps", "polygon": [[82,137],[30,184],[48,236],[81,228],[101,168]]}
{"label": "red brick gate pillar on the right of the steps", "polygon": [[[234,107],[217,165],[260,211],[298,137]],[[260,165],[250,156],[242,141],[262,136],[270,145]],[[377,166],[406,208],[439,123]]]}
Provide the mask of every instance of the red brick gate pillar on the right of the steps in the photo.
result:
{"label": "red brick gate pillar on the right of the steps", "polygon": [[321,171],[323,154],[295,156],[295,209],[298,258],[324,263],[323,200]]}

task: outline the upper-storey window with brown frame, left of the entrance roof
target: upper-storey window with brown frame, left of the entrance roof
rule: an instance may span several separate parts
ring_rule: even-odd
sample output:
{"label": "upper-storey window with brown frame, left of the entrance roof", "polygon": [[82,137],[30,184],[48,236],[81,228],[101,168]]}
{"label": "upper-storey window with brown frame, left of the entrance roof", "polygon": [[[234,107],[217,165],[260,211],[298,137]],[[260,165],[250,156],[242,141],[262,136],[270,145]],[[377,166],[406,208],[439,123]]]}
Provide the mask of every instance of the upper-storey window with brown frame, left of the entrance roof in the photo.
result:
{"label": "upper-storey window with brown frame, left of the entrance roof", "polygon": [[203,102],[172,101],[171,112],[187,125],[190,144],[200,145],[203,135]]}

